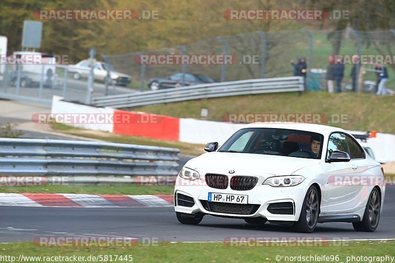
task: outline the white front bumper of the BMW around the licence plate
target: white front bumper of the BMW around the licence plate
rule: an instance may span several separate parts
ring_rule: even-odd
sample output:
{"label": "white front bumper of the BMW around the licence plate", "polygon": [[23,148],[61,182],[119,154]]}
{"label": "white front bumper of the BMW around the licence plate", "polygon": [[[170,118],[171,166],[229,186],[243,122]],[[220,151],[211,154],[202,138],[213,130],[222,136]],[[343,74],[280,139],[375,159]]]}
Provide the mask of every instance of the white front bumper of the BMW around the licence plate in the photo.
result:
{"label": "white front bumper of the BMW around the licence plate", "polygon": [[[191,185],[186,179],[178,177],[179,184],[176,185],[174,190],[174,209],[176,212],[195,214],[202,212],[205,214],[221,217],[232,217],[232,218],[249,218],[249,217],[264,217],[268,221],[298,221],[300,211],[302,209],[302,203],[306,195],[306,185],[304,182],[293,187],[272,187],[270,185],[262,185],[262,181],[259,180],[255,187],[251,190],[240,191],[232,190],[230,187],[227,189],[215,189],[207,185]],[[183,181],[185,184],[183,184]],[[247,195],[248,204],[251,209],[250,212],[246,212],[249,207],[241,207],[237,205],[228,205],[227,203],[220,203],[219,207],[227,207],[229,209],[223,209],[227,212],[214,212],[213,209],[207,207],[208,193],[221,193],[221,194],[234,194],[234,195]],[[192,197],[194,204],[191,207],[185,206],[185,204],[178,203],[178,194]],[[293,211],[292,214],[278,214],[273,209],[269,209],[269,206],[273,203],[292,203]],[[192,205],[192,203],[190,203]],[[251,206],[252,205],[252,206]],[[270,207],[278,206],[271,205]],[[238,207],[240,213],[237,213]],[[244,209],[245,208],[245,209]]]}

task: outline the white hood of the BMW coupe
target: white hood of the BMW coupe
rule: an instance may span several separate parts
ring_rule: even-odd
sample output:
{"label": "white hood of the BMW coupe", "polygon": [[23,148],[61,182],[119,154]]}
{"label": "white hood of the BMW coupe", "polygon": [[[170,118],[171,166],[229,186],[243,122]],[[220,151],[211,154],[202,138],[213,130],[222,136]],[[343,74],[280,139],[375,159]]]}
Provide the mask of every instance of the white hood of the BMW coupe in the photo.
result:
{"label": "white hood of the BMW coupe", "polygon": [[185,166],[203,173],[225,173],[235,170],[234,175],[290,175],[310,165],[319,164],[319,159],[274,156],[246,153],[212,152],[188,161]]}

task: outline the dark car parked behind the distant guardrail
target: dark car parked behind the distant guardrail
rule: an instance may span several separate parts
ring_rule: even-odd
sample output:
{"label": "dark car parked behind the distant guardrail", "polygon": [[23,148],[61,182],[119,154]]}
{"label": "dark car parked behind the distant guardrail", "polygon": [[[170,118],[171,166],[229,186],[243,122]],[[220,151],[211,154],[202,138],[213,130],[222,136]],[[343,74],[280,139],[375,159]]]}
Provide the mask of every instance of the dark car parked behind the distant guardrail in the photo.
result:
{"label": "dark car parked behind the distant guardrail", "polygon": [[206,83],[214,83],[214,80],[200,74],[185,73],[183,83],[182,73],[175,73],[167,78],[150,79],[150,81],[148,82],[148,87],[151,90],[159,90]]}

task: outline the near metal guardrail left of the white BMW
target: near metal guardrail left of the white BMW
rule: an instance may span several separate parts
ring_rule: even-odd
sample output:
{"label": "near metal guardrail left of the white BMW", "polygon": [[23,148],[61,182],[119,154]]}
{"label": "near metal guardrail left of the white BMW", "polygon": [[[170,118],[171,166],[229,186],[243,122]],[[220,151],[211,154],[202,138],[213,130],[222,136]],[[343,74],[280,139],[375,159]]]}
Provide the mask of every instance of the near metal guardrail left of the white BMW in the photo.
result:
{"label": "near metal guardrail left of the white BMW", "polygon": [[0,138],[0,174],[176,175],[178,153],[120,143]]}

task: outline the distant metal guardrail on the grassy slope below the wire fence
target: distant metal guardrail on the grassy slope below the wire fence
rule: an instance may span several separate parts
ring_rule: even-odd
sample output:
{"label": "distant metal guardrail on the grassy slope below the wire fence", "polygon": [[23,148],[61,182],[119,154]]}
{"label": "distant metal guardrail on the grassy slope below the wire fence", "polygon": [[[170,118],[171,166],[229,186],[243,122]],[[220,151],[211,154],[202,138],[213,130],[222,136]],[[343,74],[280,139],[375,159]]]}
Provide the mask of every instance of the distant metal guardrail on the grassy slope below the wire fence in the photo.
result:
{"label": "distant metal guardrail on the grassy slope below the wire fence", "polygon": [[134,107],[191,99],[304,91],[303,77],[249,79],[93,98],[95,106]]}

